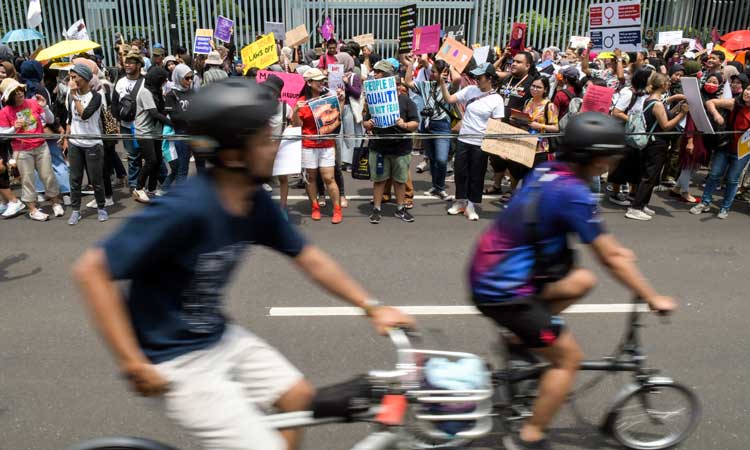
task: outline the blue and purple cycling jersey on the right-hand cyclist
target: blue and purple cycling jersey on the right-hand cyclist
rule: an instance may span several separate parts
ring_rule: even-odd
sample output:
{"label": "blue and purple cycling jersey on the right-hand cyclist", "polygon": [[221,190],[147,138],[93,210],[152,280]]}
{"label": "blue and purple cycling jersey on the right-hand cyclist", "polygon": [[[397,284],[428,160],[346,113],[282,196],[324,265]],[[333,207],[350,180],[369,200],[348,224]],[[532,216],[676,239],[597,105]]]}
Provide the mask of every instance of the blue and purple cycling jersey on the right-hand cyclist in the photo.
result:
{"label": "blue and purple cycling jersey on the right-hand cyclist", "polygon": [[[522,219],[530,201],[538,208],[535,231]],[[563,258],[568,252],[567,234],[572,232],[586,244],[593,242],[604,232],[597,204],[587,182],[569,165],[557,161],[540,165],[479,238],[469,269],[475,301],[502,302],[538,294],[534,273],[539,252],[547,261]]]}

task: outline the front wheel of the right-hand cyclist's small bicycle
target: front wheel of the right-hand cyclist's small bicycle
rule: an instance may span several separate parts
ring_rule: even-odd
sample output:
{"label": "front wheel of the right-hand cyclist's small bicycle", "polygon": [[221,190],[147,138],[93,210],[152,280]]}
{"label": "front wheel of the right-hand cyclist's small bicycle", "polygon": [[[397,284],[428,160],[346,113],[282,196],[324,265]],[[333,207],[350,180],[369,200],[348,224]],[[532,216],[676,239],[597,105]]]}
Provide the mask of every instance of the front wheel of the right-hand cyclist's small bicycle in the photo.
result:
{"label": "front wheel of the right-hand cyclist's small bicycle", "polygon": [[671,381],[650,381],[615,405],[607,428],[627,448],[666,449],[690,436],[700,413],[698,398],[689,388]]}

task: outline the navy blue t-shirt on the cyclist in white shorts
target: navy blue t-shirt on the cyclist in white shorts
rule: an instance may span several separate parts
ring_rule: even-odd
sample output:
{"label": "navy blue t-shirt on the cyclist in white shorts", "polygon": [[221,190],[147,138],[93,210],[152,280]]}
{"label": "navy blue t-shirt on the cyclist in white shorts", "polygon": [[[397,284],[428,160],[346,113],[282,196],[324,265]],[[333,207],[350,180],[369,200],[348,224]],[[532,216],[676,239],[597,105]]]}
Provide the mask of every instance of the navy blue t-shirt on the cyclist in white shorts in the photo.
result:
{"label": "navy blue t-shirt on the cyclist in white shorts", "polygon": [[211,178],[196,176],[130,218],[101,247],[117,280],[131,280],[127,307],[141,348],[158,364],[217,342],[224,289],[243,251],[260,244],[291,257],[305,246],[259,189],[247,217],[230,215]]}

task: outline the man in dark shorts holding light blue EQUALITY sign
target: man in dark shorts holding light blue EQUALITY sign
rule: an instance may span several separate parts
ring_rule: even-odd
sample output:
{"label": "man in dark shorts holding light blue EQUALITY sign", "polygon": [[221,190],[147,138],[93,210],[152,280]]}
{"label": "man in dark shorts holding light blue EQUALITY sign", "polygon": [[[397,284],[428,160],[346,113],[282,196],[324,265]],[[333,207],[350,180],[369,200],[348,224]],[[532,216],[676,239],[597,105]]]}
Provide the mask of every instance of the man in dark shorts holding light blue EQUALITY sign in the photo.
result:
{"label": "man in dark shorts holding light blue EQUALITY sign", "polygon": [[[374,80],[364,82],[367,98],[367,112],[362,125],[365,130],[379,134],[413,133],[419,126],[417,105],[408,95],[398,95],[397,78],[393,75],[393,65],[388,61],[378,61],[373,68]],[[393,178],[398,209],[395,216],[404,222],[414,222],[414,217],[406,208],[406,181],[409,178],[411,163],[410,139],[377,139],[372,141],[370,150],[370,178],[373,186],[373,208],[370,223],[380,223],[386,181]]]}

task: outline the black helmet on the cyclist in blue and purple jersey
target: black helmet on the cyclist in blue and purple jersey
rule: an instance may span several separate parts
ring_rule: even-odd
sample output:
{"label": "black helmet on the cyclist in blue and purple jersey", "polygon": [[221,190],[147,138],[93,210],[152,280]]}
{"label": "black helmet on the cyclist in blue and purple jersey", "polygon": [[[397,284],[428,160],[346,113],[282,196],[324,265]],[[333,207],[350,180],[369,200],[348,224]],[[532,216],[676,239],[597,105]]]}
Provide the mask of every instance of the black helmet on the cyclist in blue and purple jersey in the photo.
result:
{"label": "black helmet on the cyclist in blue and purple jersey", "polygon": [[565,127],[561,159],[587,162],[625,150],[624,122],[602,113],[585,112],[572,117]]}

